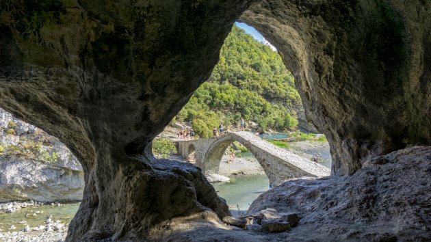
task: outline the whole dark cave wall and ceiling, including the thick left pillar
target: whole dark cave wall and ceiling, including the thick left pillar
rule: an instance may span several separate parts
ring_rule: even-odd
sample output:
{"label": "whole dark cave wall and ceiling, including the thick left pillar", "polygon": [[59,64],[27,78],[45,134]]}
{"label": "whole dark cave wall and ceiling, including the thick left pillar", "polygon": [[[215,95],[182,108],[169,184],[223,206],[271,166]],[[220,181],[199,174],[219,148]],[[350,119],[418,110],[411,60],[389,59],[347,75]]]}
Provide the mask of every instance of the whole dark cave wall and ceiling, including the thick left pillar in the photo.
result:
{"label": "whole dark cave wall and ceiling, including the thick left pillar", "polygon": [[0,11],[0,107],[83,165],[68,241],[136,240],[172,217],[228,213],[200,170],[155,161],[151,140],[209,77],[239,16],[293,70],[333,174],[431,143],[428,1],[42,0]]}

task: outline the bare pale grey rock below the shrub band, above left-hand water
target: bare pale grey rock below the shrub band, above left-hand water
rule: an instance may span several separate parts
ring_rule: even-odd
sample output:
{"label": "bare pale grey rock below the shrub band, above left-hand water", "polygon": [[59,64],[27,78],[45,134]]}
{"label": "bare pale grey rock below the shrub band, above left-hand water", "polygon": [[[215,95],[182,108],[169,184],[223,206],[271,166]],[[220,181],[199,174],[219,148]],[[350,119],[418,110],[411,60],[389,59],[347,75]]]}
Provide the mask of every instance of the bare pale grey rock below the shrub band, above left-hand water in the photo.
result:
{"label": "bare pale grey rock below the shrub band, above left-hand water", "polygon": [[82,170],[28,159],[0,161],[0,202],[80,201],[83,187]]}

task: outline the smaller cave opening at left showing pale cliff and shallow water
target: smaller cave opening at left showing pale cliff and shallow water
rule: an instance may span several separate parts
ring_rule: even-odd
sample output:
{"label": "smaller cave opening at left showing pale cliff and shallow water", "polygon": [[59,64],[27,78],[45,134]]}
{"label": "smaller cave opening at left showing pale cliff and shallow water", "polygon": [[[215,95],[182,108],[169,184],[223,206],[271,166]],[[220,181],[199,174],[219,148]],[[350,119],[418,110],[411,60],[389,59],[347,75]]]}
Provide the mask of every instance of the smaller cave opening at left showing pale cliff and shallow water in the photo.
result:
{"label": "smaller cave opening at left showing pale cliff and shallow water", "polygon": [[83,168],[59,139],[0,109],[1,232],[64,240],[83,188]]}

